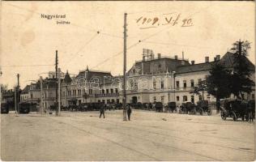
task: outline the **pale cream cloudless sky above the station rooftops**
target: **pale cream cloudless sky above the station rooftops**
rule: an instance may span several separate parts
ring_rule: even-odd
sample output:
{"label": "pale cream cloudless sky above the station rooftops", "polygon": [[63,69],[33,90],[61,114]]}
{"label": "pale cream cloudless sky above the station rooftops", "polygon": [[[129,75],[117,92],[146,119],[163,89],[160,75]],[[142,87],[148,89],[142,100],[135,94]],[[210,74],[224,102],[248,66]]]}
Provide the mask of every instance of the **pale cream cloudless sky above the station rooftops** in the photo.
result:
{"label": "pale cream cloudless sky above the station rooftops", "polygon": [[2,2],[0,81],[13,88],[19,73],[23,88],[47,77],[55,70],[56,50],[63,72],[77,75],[88,66],[122,75],[124,13],[127,70],[142,59],[143,49],[179,58],[183,51],[199,63],[222,57],[239,39],[251,42],[254,63],[254,9],[254,2]]}

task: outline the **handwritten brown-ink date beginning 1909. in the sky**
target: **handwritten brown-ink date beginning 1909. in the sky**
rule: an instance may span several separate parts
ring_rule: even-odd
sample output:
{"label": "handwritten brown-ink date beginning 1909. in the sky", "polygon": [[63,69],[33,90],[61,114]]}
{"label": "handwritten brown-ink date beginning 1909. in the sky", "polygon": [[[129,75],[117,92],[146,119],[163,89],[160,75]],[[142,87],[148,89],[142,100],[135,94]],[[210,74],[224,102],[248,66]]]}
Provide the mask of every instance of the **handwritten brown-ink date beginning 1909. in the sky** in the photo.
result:
{"label": "handwritten brown-ink date beginning 1909. in the sky", "polygon": [[162,18],[154,17],[154,18],[147,18],[147,17],[139,17],[136,19],[136,23],[140,26],[140,29],[146,28],[156,28],[160,25],[172,25],[175,26],[177,24],[181,24],[181,27],[191,27],[193,26],[192,19],[181,19],[181,14],[177,15],[164,15]]}

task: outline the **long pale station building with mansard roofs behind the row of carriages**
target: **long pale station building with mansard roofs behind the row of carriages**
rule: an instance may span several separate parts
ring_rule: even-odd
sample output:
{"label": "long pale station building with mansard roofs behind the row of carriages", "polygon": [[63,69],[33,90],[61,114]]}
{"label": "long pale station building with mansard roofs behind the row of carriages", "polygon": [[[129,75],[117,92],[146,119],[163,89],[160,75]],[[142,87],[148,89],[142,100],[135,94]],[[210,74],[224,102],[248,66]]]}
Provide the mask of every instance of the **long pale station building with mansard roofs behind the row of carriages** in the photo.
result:
{"label": "long pale station building with mansard roofs behind the row of carriages", "polygon": [[[145,58],[135,62],[126,73],[127,103],[149,103],[175,101],[177,104],[198,100],[215,102],[215,97],[200,92],[191,93],[194,87],[202,84],[215,62],[222,62],[227,68],[233,68],[233,53],[225,53],[222,58],[216,55],[213,62],[205,57],[205,62],[196,64],[184,58],[162,57]],[[254,64],[247,60],[248,66],[254,70]],[[255,71],[255,70],[254,70]],[[254,79],[255,75],[252,75]],[[90,102],[122,103],[123,78],[113,76],[110,72],[89,70],[79,71],[75,77],[66,73],[62,79],[62,105],[68,106],[71,100],[76,104]],[[251,94],[245,94],[245,99],[254,99],[255,88]]]}

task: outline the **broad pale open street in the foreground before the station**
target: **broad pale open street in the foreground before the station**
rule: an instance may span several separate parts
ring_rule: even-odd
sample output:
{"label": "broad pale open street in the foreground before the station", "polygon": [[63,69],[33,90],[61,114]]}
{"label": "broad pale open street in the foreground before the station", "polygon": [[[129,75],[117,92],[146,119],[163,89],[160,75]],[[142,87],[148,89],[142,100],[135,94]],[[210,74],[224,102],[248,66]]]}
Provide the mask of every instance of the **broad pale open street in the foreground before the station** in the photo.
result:
{"label": "broad pale open street in the foreground before the station", "polygon": [[134,110],[62,112],[62,117],[1,115],[2,160],[254,160],[254,126]]}

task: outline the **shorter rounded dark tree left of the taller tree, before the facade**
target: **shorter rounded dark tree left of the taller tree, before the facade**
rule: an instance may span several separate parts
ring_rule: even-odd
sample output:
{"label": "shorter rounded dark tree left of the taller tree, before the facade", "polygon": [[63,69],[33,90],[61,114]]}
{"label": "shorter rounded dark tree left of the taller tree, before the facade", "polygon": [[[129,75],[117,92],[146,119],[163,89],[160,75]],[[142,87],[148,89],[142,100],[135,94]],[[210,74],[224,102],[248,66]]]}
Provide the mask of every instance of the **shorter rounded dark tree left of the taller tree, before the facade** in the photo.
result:
{"label": "shorter rounded dark tree left of the taller tree, before the facade", "polygon": [[207,92],[215,96],[216,103],[225,97],[231,95],[231,70],[227,70],[220,62],[211,66],[207,76]]}

